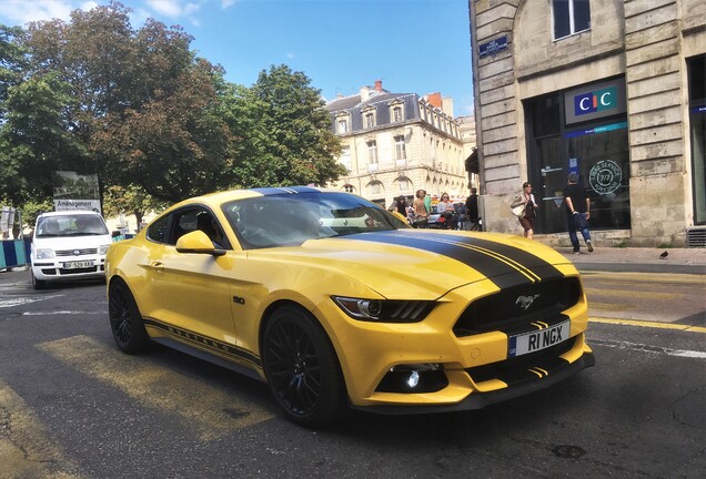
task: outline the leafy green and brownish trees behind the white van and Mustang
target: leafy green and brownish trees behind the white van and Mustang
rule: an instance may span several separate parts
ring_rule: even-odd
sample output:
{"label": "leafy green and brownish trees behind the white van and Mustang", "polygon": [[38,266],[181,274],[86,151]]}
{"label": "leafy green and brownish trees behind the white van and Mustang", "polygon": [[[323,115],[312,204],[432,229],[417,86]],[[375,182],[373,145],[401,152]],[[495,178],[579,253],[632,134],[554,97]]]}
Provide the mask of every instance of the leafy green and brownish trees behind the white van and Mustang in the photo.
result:
{"label": "leafy green and brownish trees behind the white van and Mustang", "polygon": [[304,73],[271,67],[252,88],[228,83],[181,27],[148,20],[134,30],[130,12],[111,1],[26,32],[0,26],[0,187],[9,200],[50,196],[57,170],[98,173],[109,210],[135,215],[149,208],[145,197],[172,203],[345,173]]}

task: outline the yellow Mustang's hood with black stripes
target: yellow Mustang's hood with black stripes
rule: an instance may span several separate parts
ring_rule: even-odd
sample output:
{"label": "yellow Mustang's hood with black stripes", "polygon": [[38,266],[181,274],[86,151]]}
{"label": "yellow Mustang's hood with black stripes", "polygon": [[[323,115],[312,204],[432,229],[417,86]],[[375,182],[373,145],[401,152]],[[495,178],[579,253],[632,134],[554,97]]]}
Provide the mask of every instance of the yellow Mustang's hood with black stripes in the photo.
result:
{"label": "yellow Mustang's hood with black stripes", "polygon": [[498,288],[546,281],[563,277],[556,266],[566,271],[569,264],[551,247],[520,236],[420,230],[312,240],[296,248],[261,252],[335,269],[391,299],[436,299],[483,279]]}

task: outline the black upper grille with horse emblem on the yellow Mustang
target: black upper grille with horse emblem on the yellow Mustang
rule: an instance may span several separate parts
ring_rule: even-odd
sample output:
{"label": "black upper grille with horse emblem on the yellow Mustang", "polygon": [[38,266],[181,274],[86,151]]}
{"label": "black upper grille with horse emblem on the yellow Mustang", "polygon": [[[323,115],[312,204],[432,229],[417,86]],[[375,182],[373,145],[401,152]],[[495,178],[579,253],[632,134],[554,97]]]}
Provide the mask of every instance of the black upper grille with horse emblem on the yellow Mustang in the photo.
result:
{"label": "black upper grille with horse emblem on the yellow Mustang", "polygon": [[[502,289],[473,302],[454,325],[458,337],[492,330],[515,333],[526,330],[532,322],[558,322],[562,312],[575,305],[582,296],[577,277],[548,279]],[[532,299],[530,302],[530,299]],[[523,302],[526,309],[523,308]]]}

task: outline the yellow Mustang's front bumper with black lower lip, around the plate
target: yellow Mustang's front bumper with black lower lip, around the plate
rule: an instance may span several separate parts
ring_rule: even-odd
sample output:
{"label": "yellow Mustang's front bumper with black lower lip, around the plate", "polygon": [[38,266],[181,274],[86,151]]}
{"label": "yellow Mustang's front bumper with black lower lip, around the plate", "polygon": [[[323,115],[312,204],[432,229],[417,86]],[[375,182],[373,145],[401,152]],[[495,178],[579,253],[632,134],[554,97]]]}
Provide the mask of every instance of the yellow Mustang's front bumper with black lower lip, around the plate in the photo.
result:
{"label": "yellow Mustang's front bumper with black lower lip, around the plate", "polygon": [[[569,322],[568,337],[538,351],[511,358],[511,336],[501,330],[457,336],[454,325],[471,303],[468,298],[496,292],[490,282],[450,292],[425,320],[413,324],[356,322],[333,305],[322,308],[319,313],[324,317],[336,317],[336,325],[326,329],[351,406],[386,414],[478,409],[552,386],[594,365],[584,334],[587,304],[583,294],[561,312],[562,320]],[[393,368],[413,368],[411,365],[435,365],[445,380],[431,390],[381,388]]]}

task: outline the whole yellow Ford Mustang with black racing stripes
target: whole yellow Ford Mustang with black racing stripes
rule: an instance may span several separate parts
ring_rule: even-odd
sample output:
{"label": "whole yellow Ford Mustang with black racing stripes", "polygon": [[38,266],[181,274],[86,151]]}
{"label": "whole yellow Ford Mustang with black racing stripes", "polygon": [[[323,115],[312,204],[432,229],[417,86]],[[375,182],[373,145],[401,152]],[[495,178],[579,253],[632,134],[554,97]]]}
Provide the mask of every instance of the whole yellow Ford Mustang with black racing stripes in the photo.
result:
{"label": "whole yellow Ford Mustang with black racing stripes", "polygon": [[594,364],[574,266],[539,243],[413,230],[312,187],[179,203],[107,256],[110,326],[265,380],[293,421],[477,409]]}

